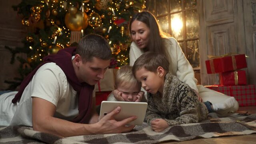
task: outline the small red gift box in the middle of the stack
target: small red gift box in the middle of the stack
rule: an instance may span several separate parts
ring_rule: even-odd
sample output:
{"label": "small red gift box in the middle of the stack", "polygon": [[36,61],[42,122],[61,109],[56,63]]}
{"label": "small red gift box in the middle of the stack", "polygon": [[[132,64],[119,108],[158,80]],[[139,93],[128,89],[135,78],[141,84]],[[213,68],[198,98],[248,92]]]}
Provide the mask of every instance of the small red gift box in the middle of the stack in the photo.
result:
{"label": "small red gift box in the middle of the stack", "polygon": [[220,73],[220,85],[224,85],[224,86],[246,85],[245,70]]}

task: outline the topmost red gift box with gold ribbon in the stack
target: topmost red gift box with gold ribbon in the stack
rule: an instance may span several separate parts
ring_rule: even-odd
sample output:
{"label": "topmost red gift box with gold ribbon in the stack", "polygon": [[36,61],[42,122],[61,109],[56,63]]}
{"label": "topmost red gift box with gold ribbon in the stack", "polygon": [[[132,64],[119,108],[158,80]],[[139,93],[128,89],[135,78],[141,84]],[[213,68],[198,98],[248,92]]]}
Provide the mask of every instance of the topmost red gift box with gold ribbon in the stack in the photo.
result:
{"label": "topmost red gift box with gold ribbon in the stack", "polygon": [[212,58],[210,60],[206,60],[205,64],[207,74],[228,72],[247,67],[245,54]]}

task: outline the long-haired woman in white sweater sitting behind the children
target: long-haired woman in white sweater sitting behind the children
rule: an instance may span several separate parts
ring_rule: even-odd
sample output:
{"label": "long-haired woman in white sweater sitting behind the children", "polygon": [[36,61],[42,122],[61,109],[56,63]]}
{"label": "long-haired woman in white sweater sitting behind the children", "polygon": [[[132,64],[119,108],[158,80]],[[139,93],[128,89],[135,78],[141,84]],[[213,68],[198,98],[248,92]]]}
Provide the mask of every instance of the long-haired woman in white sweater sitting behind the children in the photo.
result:
{"label": "long-haired woman in white sweater sitting behind the children", "polygon": [[[202,85],[196,86],[197,80],[194,77],[194,70],[178,42],[162,32],[153,14],[146,11],[135,14],[130,20],[129,30],[133,41],[130,46],[130,66],[133,66],[135,60],[144,52],[158,52],[168,58],[170,73],[194,89],[200,101],[210,101],[216,104],[230,98],[230,96],[210,90]],[[232,105],[232,108],[220,113],[235,112],[239,107],[236,100],[235,102],[228,102],[227,105]]]}

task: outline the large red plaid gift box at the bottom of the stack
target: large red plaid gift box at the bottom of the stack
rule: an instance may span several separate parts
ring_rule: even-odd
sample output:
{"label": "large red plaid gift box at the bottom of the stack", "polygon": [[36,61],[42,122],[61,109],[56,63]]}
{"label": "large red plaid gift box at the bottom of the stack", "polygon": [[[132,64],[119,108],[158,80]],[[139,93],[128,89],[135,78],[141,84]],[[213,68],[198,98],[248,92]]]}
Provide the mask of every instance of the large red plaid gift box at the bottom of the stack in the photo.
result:
{"label": "large red plaid gift box at the bottom of the stack", "polygon": [[255,85],[246,86],[205,86],[211,90],[234,96],[239,106],[256,106]]}

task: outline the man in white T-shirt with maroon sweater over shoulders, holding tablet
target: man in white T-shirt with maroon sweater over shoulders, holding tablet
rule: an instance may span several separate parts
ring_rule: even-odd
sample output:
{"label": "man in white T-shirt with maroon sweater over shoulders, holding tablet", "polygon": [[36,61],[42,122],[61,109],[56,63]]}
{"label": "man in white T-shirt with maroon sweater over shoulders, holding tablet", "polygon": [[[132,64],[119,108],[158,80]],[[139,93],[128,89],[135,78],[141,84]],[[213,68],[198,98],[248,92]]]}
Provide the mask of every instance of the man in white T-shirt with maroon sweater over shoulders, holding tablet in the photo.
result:
{"label": "man in white T-shirt with maroon sweater over shoulders, holding tablet", "polygon": [[18,93],[0,96],[0,126],[22,124],[64,137],[132,130],[134,126],[125,125],[135,116],[114,120],[120,107],[98,121],[94,84],[104,78],[110,58],[108,42],[96,34],[82,38],[77,48],[46,56]]}

